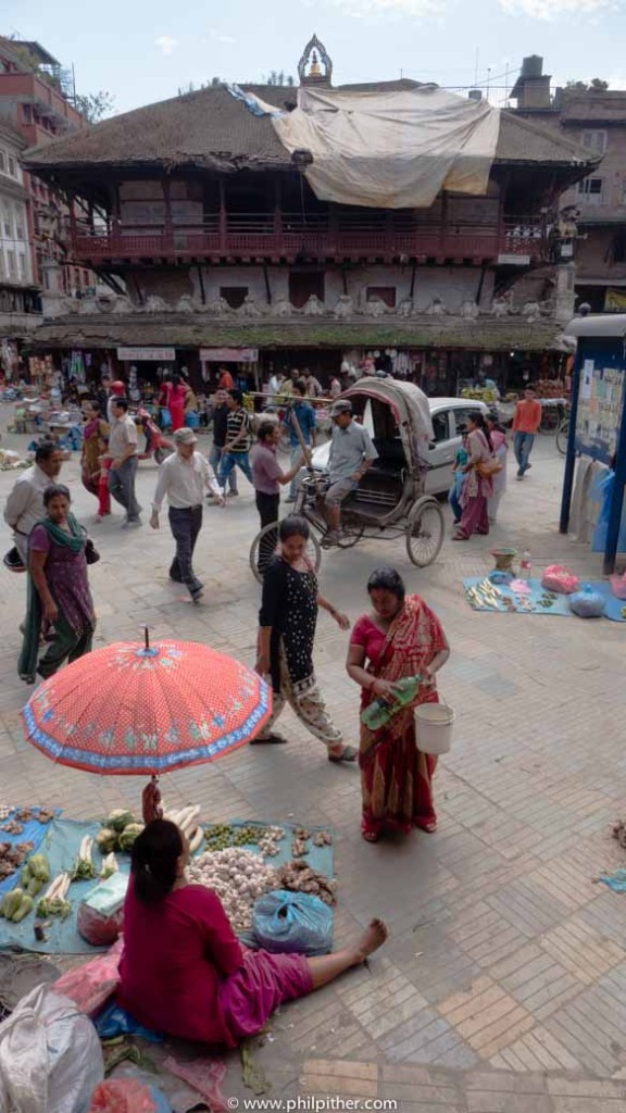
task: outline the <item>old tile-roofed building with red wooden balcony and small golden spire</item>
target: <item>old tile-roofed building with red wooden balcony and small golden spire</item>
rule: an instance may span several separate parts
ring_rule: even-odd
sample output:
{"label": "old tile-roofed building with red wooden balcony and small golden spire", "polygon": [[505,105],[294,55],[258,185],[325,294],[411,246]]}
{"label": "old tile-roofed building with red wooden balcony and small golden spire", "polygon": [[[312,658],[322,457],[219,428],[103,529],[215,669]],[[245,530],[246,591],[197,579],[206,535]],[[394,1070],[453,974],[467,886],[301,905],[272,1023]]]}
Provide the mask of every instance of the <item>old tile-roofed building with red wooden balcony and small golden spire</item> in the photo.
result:
{"label": "old tile-roofed building with red wooden balcony and small golden spire", "polygon": [[[332,89],[331,73],[312,40],[301,85]],[[299,95],[246,90],[286,111]],[[483,196],[443,190],[404,209],[321,200],[303,155],[225,87],[30,150],[27,165],[74,198],[72,255],[110,287],[79,304],[46,294],[38,345],[80,347],[94,367],[102,353],[120,371],[140,363],[145,377],[185,365],[198,384],[218,362],[262,377],[310,366],[324,380],[372,358],[432,394],[481,370],[502,386],[519,385],[524,367],[554,370],[573,276],[549,213],[594,152],[502,112]]]}

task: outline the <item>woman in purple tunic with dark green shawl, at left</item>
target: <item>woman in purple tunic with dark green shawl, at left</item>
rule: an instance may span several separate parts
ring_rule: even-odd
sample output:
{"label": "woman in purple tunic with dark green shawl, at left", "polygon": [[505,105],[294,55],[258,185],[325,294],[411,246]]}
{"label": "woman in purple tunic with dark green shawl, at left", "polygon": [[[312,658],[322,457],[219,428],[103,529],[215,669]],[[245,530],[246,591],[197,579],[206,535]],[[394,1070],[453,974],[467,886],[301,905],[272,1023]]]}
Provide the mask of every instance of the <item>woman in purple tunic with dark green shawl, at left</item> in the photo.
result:
{"label": "woman in purple tunic with dark green shawl, at left", "polygon": [[[46,518],[28,541],[28,610],[18,672],[33,684],[36,673],[51,677],[66,659],[76,661],[91,649],[96,615],[87,578],[87,534],[70,511],[61,483],[43,492]],[[55,640],[37,664],[42,619],[52,623]]]}

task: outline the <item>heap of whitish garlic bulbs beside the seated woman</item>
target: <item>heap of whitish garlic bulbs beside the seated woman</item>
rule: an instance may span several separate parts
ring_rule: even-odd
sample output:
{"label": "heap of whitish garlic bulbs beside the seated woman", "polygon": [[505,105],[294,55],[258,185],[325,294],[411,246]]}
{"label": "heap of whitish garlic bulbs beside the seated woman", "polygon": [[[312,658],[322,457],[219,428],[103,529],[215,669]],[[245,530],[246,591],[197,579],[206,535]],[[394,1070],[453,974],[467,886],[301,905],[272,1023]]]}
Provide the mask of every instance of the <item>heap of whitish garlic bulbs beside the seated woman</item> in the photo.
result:
{"label": "heap of whitish garlic bulbs beside the seated woman", "polygon": [[193,885],[204,885],[217,894],[235,932],[252,927],[252,909],[257,897],[278,888],[276,871],[254,850],[228,847],[194,858],[187,867]]}

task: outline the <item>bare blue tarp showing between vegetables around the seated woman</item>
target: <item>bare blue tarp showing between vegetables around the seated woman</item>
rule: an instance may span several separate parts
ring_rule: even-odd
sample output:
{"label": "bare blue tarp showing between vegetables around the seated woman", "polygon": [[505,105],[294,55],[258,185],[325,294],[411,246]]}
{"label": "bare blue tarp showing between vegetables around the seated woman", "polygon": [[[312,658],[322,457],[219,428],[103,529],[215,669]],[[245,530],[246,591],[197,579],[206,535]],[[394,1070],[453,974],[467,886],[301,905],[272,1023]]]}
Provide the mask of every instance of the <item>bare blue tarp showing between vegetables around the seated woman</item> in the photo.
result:
{"label": "bare blue tarp showing between vegetables around the seated woman", "polygon": [[[261,821],[257,819],[233,819],[229,820],[231,826],[234,828],[241,827],[282,827],[285,830],[285,838],[278,843],[280,851],[274,857],[268,857],[265,859],[268,866],[278,868],[286,861],[291,861],[291,844],[295,837],[295,831],[299,824],[288,824],[276,821]],[[40,824],[36,826],[40,827]],[[205,829],[209,829],[211,825],[203,824]],[[326,830],[324,827],[309,827],[307,828],[312,835],[320,830]],[[40,845],[40,849],[47,855],[50,863],[50,878],[55,878],[58,874],[63,873],[63,870],[71,871],[74,863],[78,857],[78,849],[80,843],[86,835],[92,835],[94,837],[100,830],[100,824],[95,820],[75,820],[75,819],[53,819],[47,827],[42,828],[45,834],[43,845]],[[29,836],[30,837],[30,836]],[[26,838],[25,835],[18,837],[18,841]],[[41,843],[41,840],[40,840]],[[303,859],[307,865],[312,866],[313,869],[325,874],[326,877],[333,876],[334,868],[334,847],[323,846],[316,847],[310,844],[311,849],[306,857]],[[253,850],[256,854],[260,853],[258,847],[255,844],[245,845],[243,849]],[[197,856],[204,854],[205,848],[200,847],[197,851]],[[33,851],[35,853],[35,851]],[[96,846],[94,846],[92,851],[94,865],[96,871],[99,873],[101,865],[101,856]],[[118,861],[118,867],[121,871],[128,874],[130,869],[130,857],[127,854],[121,854],[116,851],[116,858]],[[9,889],[14,888],[19,885],[19,873],[9,879]],[[89,881],[72,881],[68,899],[72,906],[72,915],[66,920],[52,918],[50,919],[49,927],[46,928],[46,940],[39,940],[35,938],[35,920],[36,914],[32,912],[29,916],[21,922],[21,924],[12,924],[10,920],[0,918],[0,951],[36,951],[49,955],[80,955],[80,954],[96,954],[99,951],[107,951],[108,947],[95,947],[90,943],[87,943],[77,930],[76,917],[78,912],[78,906],[82,899],[89,893],[89,890],[96,884],[95,880]],[[45,889],[43,889],[45,892]],[[242,935],[242,940],[247,945],[251,945],[252,940],[246,936]]]}

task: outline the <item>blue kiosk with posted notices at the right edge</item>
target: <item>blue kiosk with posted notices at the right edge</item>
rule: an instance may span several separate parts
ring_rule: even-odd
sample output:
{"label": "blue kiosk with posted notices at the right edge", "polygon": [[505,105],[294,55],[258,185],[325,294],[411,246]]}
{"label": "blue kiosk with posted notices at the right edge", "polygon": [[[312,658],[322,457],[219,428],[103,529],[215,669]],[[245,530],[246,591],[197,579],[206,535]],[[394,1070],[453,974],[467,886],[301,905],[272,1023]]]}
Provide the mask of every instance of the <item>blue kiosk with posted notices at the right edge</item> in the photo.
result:
{"label": "blue kiosk with posted notices at the right edge", "polygon": [[571,415],[565,463],[559,530],[567,533],[578,455],[615,467],[605,575],[615,571],[626,484],[626,314],[576,317],[565,329],[576,337]]}

